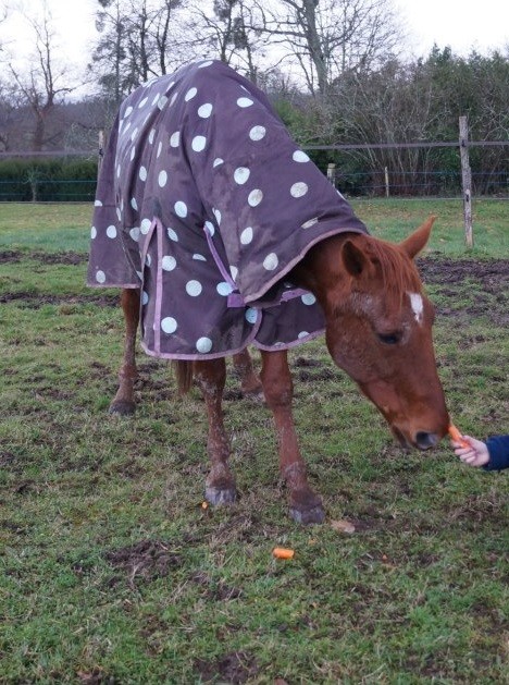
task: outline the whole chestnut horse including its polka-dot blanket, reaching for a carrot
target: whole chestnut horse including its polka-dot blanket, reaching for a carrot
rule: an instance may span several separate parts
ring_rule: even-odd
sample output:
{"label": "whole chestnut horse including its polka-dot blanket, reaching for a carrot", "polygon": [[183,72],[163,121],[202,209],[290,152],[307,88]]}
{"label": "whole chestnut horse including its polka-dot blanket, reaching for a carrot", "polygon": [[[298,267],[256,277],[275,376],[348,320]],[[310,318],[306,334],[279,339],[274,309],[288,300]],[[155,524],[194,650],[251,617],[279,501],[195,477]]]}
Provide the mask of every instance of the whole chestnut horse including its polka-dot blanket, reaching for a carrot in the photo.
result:
{"label": "whole chestnut horse including its polka-dot blanket, reaching for a carrot", "polygon": [[263,93],[225,64],[200,62],[145,84],[122,105],[109,140],[88,268],[90,285],[124,289],[117,407],[132,401],[139,320],[144,350],[175,360],[179,390],[193,378],[201,387],[206,497],[231,503],[225,357],[237,355],[249,375],[247,346],[258,346],[290,513],[322,522],[294,426],[287,350],[325,332],[333,360],[399,442],[434,447],[449,419],[433,307],[413,261],[433,220],[400,244],[370,236]]}

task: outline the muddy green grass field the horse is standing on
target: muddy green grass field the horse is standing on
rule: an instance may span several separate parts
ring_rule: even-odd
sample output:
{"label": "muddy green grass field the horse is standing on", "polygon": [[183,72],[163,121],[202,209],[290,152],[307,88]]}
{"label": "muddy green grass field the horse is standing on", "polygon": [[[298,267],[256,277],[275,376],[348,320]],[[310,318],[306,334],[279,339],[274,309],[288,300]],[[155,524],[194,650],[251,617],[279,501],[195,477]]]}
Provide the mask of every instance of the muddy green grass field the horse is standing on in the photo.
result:
{"label": "muddy green grass field the horse is standing on", "polygon": [[[419,266],[448,405],[507,432],[509,204],[475,203],[470,252],[459,201],[356,210],[389,240],[438,216]],[[196,390],[139,354],[136,416],[108,414],[123,321],[117,292],[85,286],[90,213],[0,205],[0,683],[508,682],[509,473],[447,441],[402,452],[318,341],[291,360],[326,522],[287,517],[271,417],[234,374],[240,498],[203,509]]]}

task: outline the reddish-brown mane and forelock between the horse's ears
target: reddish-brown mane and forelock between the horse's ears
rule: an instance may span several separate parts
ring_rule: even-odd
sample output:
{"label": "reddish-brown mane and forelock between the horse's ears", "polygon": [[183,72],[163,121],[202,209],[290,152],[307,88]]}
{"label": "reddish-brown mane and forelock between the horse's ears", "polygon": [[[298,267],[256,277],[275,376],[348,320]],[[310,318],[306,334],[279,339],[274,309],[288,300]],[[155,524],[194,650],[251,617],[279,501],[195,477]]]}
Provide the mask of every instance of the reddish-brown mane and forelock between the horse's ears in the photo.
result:
{"label": "reddish-brown mane and forelock between the horse's ears", "polygon": [[397,244],[370,236],[368,254],[380,266],[384,291],[400,303],[405,293],[420,293],[422,281],[415,262]]}

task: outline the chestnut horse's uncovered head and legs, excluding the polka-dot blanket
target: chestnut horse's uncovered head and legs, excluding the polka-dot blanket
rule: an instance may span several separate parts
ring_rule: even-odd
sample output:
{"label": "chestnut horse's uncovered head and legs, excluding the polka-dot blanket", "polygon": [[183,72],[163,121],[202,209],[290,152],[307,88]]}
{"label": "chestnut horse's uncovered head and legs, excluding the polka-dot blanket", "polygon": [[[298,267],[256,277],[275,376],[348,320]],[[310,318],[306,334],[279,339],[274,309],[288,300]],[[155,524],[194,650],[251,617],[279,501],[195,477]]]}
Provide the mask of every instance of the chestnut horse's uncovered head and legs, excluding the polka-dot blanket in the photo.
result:
{"label": "chestnut horse's uncovered head and legs, excluding the polka-dot blanket", "polygon": [[[375,404],[404,447],[427,450],[447,432],[449,417],[438,380],[432,342],[433,305],[423,293],[414,257],[425,246],[434,217],[399,244],[342,233],[314,245],[290,272],[291,281],[312,292],[325,315],[326,345],[344,369]],[[113,409],[132,403],[135,333],[139,291],[124,291],[127,321],[124,366]],[[237,355],[246,388],[257,384],[250,358]],[[289,493],[290,514],[300,523],[321,523],[324,509],[311,489],[291,414],[293,380],[286,350],[261,351],[261,382],[273,413],[280,469]],[[229,441],[222,395],[224,357],[177,360],[179,390],[199,383],[209,423],[211,469],[206,497],[211,504],[235,501],[235,479],[228,467]],[[124,403],[124,404],[123,404]]]}

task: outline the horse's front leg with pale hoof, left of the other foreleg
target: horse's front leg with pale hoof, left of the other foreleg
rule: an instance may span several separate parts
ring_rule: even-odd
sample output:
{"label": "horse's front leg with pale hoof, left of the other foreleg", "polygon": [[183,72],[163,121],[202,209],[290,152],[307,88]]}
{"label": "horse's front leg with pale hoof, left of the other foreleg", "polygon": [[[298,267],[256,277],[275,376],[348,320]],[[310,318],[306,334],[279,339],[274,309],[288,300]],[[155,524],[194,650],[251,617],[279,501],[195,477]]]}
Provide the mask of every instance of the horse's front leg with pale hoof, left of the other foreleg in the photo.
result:
{"label": "horse's front leg with pale hoof, left of the other foreleg", "polygon": [[195,362],[195,378],[201,388],[207,406],[209,435],[207,452],[211,469],[206,484],[206,498],[211,504],[235,501],[235,479],[228,468],[229,440],[223,421],[223,390],[226,380],[224,358]]}

